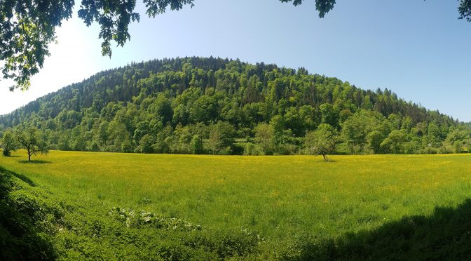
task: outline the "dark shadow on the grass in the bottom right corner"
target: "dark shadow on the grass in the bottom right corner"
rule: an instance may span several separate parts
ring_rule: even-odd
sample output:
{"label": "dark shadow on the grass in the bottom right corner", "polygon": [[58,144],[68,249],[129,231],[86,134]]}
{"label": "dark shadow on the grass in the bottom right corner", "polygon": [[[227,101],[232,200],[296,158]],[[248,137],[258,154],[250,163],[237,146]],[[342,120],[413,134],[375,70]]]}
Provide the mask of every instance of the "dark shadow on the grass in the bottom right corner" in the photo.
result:
{"label": "dark shadow on the grass in the bottom right corner", "polygon": [[300,260],[471,260],[471,199],[372,231],[304,240]]}

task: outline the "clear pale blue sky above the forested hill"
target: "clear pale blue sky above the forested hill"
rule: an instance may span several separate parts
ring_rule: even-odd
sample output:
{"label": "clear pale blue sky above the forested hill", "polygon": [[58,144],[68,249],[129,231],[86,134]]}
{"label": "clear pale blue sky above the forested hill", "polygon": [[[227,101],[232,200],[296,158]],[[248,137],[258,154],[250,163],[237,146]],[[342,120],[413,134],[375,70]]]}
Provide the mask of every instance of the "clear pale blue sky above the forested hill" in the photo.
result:
{"label": "clear pale blue sky above the forested hill", "polygon": [[[139,0],[138,0],[139,1]],[[79,0],[77,1],[79,2]],[[195,0],[195,7],[130,26],[131,41],[101,56],[98,27],[74,18],[29,91],[0,81],[0,114],[103,69],[154,58],[203,56],[306,67],[364,89],[389,88],[404,100],[471,121],[471,23],[458,1],[338,0],[324,19],[314,1]]]}

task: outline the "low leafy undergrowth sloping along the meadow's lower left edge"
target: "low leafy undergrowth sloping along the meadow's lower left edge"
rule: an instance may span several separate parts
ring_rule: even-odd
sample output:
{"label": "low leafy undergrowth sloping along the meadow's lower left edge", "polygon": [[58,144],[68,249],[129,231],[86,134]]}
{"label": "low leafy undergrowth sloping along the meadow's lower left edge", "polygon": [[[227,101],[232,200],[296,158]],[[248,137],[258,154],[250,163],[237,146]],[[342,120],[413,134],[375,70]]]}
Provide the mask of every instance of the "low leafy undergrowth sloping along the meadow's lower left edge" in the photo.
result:
{"label": "low leafy undergrowth sloping along the meadow's lower left edge", "polygon": [[105,210],[75,195],[59,198],[4,169],[0,188],[2,260],[221,260],[252,255],[263,240],[247,229],[214,230],[144,210]]}

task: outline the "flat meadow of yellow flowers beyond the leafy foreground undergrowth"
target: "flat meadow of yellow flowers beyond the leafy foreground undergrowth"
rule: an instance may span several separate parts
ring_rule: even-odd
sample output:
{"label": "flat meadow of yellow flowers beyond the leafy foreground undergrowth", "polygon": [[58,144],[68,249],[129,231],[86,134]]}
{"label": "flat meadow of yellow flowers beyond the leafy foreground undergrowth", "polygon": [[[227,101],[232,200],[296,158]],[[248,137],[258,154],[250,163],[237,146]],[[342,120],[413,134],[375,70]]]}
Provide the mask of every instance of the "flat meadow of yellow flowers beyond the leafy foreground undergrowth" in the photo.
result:
{"label": "flat meadow of yellow flowers beyond the leafy foreground undergrowth", "polygon": [[[467,211],[471,197],[471,155],[332,156],[325,163],[320,156],[53,151],[33,159],[19,151],[0,157],[0,166],[45,187],[57,201],[80,205],[85,217],[101,215],[92,208],[132,208],[218,233],[244,229],[259,235],[250,256],[261,259],[380,256],[372,242],[378,235],[388,244],[387,235],[401,234],[404,226],[414,234],[434,222],[461,222],[456,211]],[[438,218],[444,210],[454,219]],[[412,251],[407,240],[398,246],[407,248],[406,256]],[[374,253],[349,252],[357,248]]]}

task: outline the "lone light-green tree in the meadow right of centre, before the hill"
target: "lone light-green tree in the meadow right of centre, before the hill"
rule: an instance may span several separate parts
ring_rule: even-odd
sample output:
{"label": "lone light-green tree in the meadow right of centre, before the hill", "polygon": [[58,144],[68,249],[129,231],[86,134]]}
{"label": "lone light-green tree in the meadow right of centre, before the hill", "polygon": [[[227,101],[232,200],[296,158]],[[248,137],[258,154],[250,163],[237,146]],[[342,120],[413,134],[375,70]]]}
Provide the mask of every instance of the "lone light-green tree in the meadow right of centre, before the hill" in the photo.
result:
{"label": "lone light-green tree in the meadow right of centre, before the hill", "polygon": [[304,138],[308,154],[322,155],[324,161],[329,161],[327,154],[335,152],[335,144],[335,130],[327,123],[320,124],[316,131],[311,131]]}

